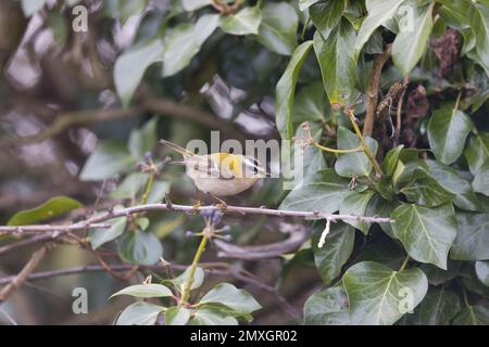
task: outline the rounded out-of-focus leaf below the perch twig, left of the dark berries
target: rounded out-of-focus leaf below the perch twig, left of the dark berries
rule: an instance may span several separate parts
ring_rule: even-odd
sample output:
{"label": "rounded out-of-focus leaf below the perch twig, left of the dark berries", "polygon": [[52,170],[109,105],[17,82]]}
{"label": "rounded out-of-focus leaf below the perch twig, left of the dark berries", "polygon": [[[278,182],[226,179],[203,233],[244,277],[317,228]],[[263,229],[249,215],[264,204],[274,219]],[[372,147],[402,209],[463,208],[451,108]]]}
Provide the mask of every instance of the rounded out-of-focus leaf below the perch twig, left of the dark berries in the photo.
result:
{"label": "rounded out-of-focus leaf below the perch twig, left of the dark berries", "polygon": [[154,265],[162,257],[163,247],[153,233],[129,231],[121,237],[118,255],[126,262]]}

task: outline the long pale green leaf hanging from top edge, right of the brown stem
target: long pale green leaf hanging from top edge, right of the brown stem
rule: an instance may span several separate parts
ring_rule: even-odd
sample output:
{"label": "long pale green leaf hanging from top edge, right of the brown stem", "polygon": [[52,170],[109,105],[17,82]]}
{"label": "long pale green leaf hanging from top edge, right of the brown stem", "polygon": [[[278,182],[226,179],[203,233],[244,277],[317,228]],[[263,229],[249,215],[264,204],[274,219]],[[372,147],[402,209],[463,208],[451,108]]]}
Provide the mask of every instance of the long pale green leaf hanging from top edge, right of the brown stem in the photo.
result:
{"label": "long pale green leaf hanging from top edge, right of the brown stem", "polygon": [[434,2],[415,0],[405,4],[409,18],[400,25],[400,33],[392,43],[392,61],[402,75],[408,75],[426,51],[432,29],[434,5]]}

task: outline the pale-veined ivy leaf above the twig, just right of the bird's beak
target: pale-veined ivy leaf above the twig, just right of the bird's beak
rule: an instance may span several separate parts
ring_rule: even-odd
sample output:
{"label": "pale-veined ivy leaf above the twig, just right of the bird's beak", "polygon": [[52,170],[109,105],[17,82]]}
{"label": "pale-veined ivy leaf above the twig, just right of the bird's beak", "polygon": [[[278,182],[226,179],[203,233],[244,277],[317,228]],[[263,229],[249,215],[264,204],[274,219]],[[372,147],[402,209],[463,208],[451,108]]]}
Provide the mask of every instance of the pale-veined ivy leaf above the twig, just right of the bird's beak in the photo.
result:
{"label": "pale-veined ivy leaf above the twig, just right of the bird's beak", "polygon": [[350,191],[349,181],[333,169],[324,169],[304,178],[301,185],[292,190],[281,202],[284,210],[317,210],[333,214]]}

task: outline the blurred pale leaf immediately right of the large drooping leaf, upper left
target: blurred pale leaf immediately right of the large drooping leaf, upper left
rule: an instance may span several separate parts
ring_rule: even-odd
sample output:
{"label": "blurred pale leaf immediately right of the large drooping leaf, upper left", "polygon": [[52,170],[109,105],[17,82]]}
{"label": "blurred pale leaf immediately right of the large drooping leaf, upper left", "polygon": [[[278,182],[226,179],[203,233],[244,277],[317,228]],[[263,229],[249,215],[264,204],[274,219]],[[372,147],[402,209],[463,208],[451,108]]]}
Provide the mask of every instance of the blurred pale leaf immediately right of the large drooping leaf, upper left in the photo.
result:
{"label": "blurred pale leaf immediately right of the large drooping leaf, upper left", "polygon": [[173,76],[184,69],[199,52],[193,25],[184,23],[171,29],[164,39],[163,77]]}

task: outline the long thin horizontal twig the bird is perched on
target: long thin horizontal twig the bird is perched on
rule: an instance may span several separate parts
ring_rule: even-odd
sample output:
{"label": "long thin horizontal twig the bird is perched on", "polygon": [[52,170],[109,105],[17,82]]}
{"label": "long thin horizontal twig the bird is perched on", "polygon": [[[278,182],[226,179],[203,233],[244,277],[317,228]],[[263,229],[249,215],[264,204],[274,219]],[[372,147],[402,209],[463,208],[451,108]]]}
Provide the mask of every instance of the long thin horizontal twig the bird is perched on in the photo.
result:
{"label": "long thin horizontal twig the bird is perched on", "polygon": [[392,219],[386,217],[364,217],[356,215],[333,215],[325,214],[319,211],[306,211],[306,210],[280,210],[280,209],[272,209],[265,207],[246,207],[246,206],[189,206],[189,205],[175,205],[175,204],[146,204],[126,207],[117,210],[109,210],[102,213],[98,216],[90,217],[83,221],[65,224],[65,226],[50,226],[50,224],[38,224],[38,226],[22,226],[22,227],[11,227],[11,226],[0,226],[0,233],[18,233],[18,232],[53,232],[53,231],[74,231],[74,230],[83,230],[87,228],[100,228],[101,222],[106,220],[130,216],[134,214],[140,214],[146,211],[153,210],[173,210],[173,211],[184,211],[184,213],[195,213],[196,210],[222,210],[228,214],[240,214],[240,215],[267,215],[267,216],[276,216],[276,217],[298,217],[298,218],[316,218],[316,219],[329,219],[330,221],[335,220],[361,220],[365,222],[374,222],[374,223],[389,223],[393,222]]}

